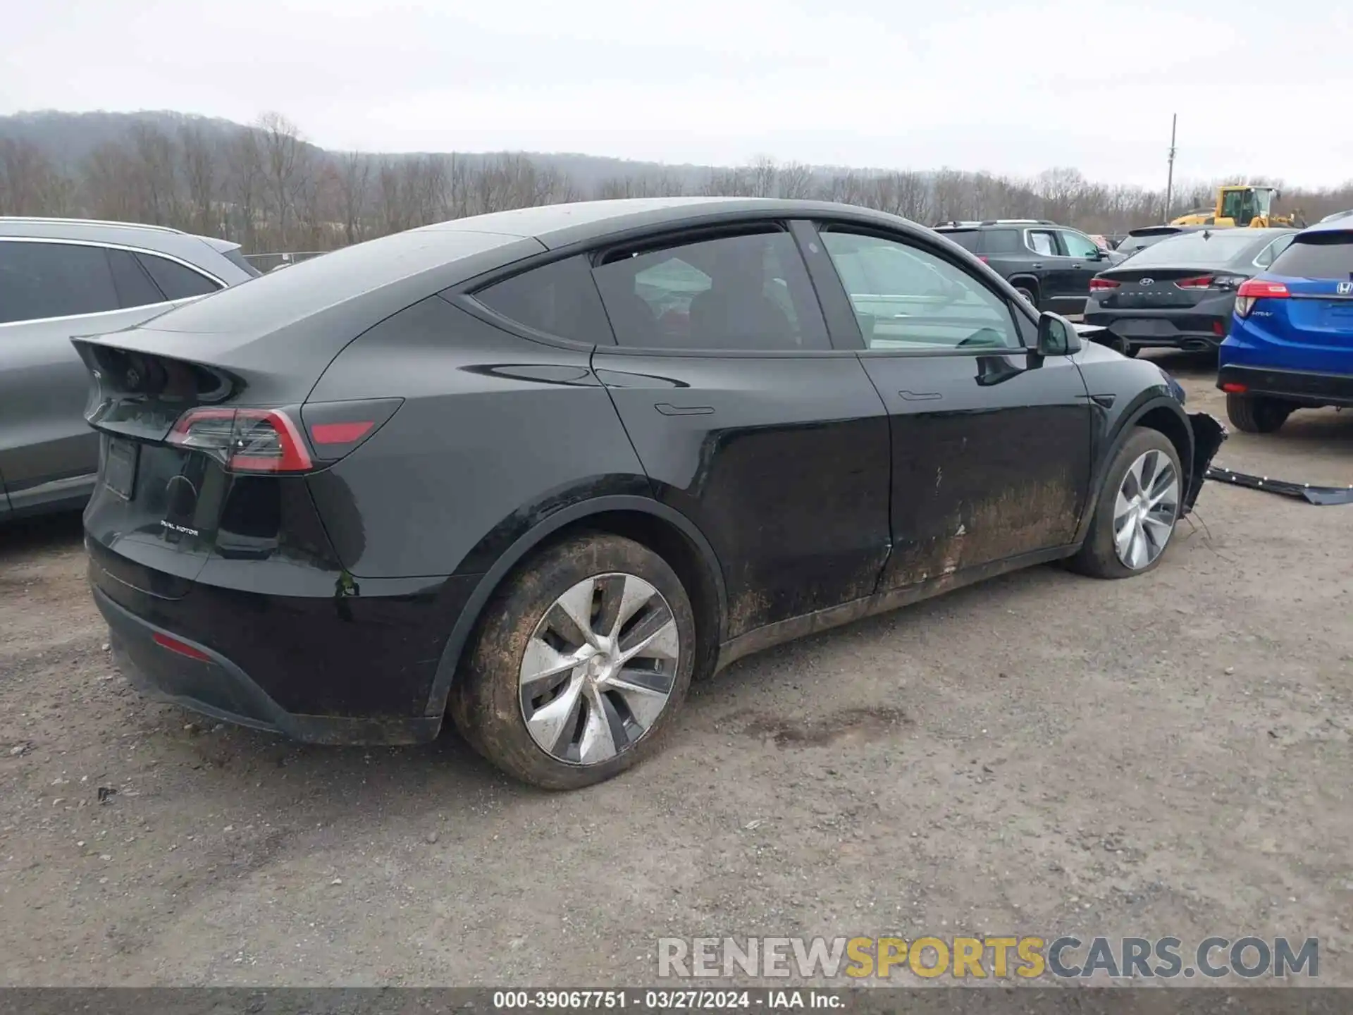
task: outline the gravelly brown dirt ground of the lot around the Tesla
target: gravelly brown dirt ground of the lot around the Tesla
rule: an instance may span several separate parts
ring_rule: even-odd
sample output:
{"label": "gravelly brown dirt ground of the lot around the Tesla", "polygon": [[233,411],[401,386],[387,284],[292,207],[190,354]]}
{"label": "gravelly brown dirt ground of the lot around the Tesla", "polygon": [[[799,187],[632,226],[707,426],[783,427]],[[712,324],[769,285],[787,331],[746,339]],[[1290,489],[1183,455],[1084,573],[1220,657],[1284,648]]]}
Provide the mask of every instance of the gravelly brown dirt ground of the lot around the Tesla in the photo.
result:
{"label": "gravelly brown dirt ground of the lot around the Tesla", "polygon": [[[1218,460],[1342,484],[1350,452],[1319,413]],[[748,659],[653,762],[551,796],[451,736],[142,701],[78,521],[16,526],[0,981],[636,984],[660,935],[1082,931],[1319,937],[1353,984],[1350,560],[1353,506],[1211,484],[1145,579],[1036,568]]]}

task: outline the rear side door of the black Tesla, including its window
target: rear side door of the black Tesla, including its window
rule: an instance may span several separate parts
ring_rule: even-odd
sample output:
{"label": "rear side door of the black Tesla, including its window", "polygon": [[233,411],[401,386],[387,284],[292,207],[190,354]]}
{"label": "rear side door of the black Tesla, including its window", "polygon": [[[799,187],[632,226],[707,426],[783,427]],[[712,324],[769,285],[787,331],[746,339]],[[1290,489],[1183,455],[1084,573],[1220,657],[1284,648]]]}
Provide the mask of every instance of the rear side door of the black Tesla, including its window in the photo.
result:
{"label": "rear side door of the black Tesla, including its window", "polygon": [[593,369],[655,495],[718,556],[736,637],[874,591],[889,426],[831,346],[790,231],[748,223],[598,252],[616,345]]}

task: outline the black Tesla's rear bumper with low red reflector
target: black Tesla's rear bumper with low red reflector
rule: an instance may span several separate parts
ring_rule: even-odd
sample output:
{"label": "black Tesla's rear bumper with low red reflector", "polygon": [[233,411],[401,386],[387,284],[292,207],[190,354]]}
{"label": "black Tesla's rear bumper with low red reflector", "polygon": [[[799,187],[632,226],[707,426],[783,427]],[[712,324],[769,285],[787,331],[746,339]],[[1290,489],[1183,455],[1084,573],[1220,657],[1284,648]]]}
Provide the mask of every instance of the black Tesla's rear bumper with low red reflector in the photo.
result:
{"label": "black Tesla's rear bumper with low red reflector", "polygon": [[[145,694],[311,743],[419,743],[445,701],[433,681],[478,575],[352,582],[300,597],[173,581],[87,540],[95,602],[127,678]],[[273,575],[275,577],[275,575]]]}

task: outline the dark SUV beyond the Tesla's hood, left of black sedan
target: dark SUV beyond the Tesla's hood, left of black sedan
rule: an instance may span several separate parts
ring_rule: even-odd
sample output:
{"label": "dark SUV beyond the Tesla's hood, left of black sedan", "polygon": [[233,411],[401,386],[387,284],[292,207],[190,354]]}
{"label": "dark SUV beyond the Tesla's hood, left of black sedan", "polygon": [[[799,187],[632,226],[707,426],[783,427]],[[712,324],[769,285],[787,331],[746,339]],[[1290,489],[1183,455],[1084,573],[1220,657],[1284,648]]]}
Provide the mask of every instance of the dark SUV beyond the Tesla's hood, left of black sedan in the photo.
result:
{"label": "dark SUV beyond the Tesla's hood, left of black sedan", "polygon": [[1038,310],[1081,314],[1091,279],[1123,256],[1104,250],[1084,233],[1047,219],[986,219],[935,226],[986,261]]}

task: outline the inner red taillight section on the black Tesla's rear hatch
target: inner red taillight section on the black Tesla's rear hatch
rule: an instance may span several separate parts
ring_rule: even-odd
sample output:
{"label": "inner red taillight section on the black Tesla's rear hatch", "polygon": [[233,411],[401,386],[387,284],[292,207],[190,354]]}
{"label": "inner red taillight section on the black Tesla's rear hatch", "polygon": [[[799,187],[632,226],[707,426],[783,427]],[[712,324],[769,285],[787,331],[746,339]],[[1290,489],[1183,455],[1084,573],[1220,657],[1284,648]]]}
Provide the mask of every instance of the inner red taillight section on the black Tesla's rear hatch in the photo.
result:
{"label": "inner red taillight section on the black Tesla's rear hatch", "polygon": [[300,430],[280,409],[189,409],[168,441],[204,451],[230,472],[304,472],[314,468]]}

